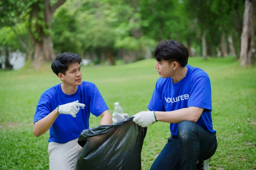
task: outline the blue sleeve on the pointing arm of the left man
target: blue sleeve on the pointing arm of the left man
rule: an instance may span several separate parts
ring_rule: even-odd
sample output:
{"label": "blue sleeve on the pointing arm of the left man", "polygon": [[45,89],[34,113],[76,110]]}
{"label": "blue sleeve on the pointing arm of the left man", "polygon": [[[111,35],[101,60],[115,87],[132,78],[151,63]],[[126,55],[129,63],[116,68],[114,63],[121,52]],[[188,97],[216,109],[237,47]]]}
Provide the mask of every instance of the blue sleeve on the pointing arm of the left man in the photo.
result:
{"label": "blue sleeve on the pointing arm of the left man", "polygon": [[35,122],[43,119],[45,116],[47,116],[51,112],[52,112],[51,102],[50,102],[49,98],[47,97],[47,95],[42,94],[38,101],[38,105],[36,107],[34,124],[35,124]]}

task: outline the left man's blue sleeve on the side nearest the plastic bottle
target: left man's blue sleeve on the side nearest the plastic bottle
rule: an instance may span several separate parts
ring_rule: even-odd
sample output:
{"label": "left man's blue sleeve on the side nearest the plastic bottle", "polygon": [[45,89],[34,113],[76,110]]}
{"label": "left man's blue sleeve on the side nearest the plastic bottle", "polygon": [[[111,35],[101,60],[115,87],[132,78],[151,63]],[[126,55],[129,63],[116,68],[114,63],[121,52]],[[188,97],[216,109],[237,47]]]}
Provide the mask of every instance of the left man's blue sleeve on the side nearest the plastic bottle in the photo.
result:
{"label": "left man's blue sleeve on the side nearest the plastic bottle", "polygon": [[90,113],[95,116],[99,116],[106,110],[108,110],[107,104],[100,94],[99,89],[96,85],[93,85],[90,93]]}

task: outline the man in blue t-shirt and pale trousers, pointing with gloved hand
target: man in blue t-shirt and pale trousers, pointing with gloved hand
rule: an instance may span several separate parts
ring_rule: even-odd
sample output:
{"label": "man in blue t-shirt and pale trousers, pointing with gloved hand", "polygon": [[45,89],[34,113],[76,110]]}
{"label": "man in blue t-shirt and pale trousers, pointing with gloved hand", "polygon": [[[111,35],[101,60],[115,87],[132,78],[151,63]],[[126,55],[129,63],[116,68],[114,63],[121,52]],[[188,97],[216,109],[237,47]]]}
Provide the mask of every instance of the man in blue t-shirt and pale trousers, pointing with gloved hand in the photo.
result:
{"label": "man in blue t-shirt and pale trousers, pointing with gloved hand", "polygon": [[101,116],[100,125],[110,125],[112,116],[95,84],[82,81],[81,58],[58,54],[52,71],[62,83],[41,95],[35,111],[33,133],[39,137],[49,130],[49,169],[71,170],[82,147],[77,139],[89,128],[90,113]]}

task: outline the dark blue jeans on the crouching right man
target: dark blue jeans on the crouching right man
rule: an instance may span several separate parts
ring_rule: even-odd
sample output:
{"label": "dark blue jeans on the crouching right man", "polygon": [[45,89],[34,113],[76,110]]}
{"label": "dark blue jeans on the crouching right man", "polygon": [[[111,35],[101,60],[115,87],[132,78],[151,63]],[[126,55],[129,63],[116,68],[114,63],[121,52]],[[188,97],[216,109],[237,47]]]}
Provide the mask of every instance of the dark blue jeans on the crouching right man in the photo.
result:
{"label": "dark blue jeans on the crouching right man", "polygon": [[195,122],[180,122],[178,136],[168,139],[150,170],[196,170],[197,161],[209,159],[217,146],[215,133]]}

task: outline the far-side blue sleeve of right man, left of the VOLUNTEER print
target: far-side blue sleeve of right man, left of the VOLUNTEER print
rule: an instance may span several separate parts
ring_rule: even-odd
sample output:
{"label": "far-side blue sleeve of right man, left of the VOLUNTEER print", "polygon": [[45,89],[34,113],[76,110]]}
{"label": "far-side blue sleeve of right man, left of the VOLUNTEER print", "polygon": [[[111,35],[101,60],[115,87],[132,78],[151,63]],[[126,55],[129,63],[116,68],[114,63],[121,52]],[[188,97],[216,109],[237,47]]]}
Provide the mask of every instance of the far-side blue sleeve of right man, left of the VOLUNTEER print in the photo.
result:
{"label": "far-side blue sleeve of right man, left of the VOLUNTEER print", "polygon": [[162,99],[162,88],[157,81],[151,100],[148,104],[148,110],[150,111],[165,111],[164,101]]}

